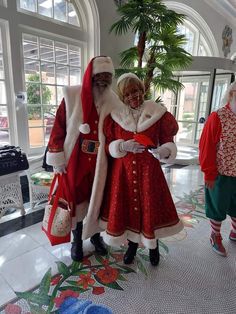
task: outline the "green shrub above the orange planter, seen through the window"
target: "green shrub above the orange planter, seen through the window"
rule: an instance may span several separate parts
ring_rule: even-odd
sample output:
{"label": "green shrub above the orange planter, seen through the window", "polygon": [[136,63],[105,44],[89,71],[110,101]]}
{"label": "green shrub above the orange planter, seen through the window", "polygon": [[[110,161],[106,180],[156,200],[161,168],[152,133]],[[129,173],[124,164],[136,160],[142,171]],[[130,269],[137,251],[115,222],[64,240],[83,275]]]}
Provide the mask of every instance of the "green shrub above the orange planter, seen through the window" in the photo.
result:
{"label": "green shrub above the orange planter, seen through the window", "polygon": [[[47,86],[41,85],[39,74],[31,74],[27,78],[26,84],[27,102],[28,102],[28,116],[29,119],[41,118],[41,104],[48,104],[51,100],[51,91]],[[33,83],[31,83],[33,82]],[[41,88],[41,91],[40,91]],[[42,102],[41,102],[42,95]],[[37,105],[37,106],[32,106]]]}

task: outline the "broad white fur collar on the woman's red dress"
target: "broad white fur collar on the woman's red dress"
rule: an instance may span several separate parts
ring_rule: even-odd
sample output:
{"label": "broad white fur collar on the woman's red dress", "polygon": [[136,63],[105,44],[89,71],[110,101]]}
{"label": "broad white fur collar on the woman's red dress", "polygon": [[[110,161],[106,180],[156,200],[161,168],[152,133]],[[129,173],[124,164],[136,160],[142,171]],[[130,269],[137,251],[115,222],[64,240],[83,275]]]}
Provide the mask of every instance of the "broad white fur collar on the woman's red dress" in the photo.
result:
{"label": "broad white fur collar on the woman's red dress", "polygon": [[138,119],[137,126],[127,106],[113,110],[111,116],[126,131],[142,132],[157,122],[166,110],[161,103],[156,103],[153,100],[144,101],[143,111]]}

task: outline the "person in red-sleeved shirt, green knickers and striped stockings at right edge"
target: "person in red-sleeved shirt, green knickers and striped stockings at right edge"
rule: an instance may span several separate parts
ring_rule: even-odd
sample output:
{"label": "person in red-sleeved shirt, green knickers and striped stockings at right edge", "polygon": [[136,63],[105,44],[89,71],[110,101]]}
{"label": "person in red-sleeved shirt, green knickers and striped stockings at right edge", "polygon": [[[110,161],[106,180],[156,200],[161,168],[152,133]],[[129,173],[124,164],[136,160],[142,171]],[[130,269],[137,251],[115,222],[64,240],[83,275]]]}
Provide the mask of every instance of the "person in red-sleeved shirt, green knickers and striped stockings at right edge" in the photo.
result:
{"label": "person in red-sleeved shirt, green knickers and striped stockings at right edge", "polygon": [[199,162],[205,180],[205,209],[210,219],[213,250],[226,256],[221,224],[231,217],[229,239],[236,241],[236,82],[223,99],[224,106],[212,112],[199,142]]}

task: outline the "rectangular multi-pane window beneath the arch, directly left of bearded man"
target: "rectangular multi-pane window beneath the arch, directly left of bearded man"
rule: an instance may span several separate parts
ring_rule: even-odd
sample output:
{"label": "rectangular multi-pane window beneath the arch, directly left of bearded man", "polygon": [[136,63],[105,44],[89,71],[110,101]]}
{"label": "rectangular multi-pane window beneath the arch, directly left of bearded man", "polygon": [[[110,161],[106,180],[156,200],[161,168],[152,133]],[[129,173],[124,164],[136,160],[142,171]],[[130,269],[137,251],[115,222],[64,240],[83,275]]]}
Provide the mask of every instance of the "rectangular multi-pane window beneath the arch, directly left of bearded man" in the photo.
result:
{"label": "rectangular multi-pane window beneath the arch, directly left of bearded man", "polygon": [[81,48],[23,34],[25,90],[31,147],[47,144],[63,86],[81,83]]}

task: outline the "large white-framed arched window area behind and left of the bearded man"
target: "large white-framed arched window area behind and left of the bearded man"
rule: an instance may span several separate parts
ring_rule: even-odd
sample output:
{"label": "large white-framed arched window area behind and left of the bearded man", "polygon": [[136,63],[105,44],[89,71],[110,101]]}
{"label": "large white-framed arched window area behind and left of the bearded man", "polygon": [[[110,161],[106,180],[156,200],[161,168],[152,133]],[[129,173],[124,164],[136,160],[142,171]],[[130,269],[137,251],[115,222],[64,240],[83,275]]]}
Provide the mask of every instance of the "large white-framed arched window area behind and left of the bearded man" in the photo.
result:
{"label": "large white-framed arched window area behind and left of the bearded man", "polygon": [[[88,60],[99,54],[96,3],[0,0],[0,5],[0,145],[43,154],[63,87],[80,84]],[[25,101],[16,97],[22,93]]]}

